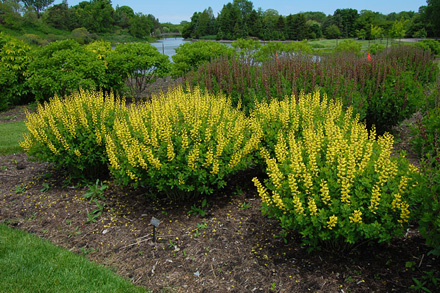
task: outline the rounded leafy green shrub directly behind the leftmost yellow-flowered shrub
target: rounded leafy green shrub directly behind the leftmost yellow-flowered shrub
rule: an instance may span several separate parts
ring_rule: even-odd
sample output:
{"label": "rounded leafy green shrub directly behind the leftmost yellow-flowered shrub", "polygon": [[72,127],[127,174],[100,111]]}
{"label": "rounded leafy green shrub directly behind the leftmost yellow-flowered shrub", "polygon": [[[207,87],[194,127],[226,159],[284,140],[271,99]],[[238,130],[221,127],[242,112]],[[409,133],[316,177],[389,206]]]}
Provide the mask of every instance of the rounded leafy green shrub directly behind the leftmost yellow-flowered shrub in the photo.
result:
{"label": "rounded leafy green shrub directly behind the leftmost yellow-flowered shrub", "polygon": [[96,54],[74,40],[57,41],[35,49],[27,83],[37,100],[83,89],[108,88],[106,67]]}

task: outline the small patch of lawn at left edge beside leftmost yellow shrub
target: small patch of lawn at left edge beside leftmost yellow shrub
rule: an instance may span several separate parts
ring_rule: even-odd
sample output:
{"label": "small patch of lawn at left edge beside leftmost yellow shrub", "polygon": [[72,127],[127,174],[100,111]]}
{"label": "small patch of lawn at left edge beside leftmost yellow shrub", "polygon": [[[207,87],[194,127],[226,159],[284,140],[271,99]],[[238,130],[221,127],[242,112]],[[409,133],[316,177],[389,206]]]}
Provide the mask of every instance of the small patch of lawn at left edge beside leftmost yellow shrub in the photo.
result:
{"label": "small patch of lawn at left edge beside leftmost yellow shrub", "polygon": [[0,156],[22,153],[23,149],[18,145],[23,140],[23,133],[27,132],[23,121],[7,122],[0,124]]}

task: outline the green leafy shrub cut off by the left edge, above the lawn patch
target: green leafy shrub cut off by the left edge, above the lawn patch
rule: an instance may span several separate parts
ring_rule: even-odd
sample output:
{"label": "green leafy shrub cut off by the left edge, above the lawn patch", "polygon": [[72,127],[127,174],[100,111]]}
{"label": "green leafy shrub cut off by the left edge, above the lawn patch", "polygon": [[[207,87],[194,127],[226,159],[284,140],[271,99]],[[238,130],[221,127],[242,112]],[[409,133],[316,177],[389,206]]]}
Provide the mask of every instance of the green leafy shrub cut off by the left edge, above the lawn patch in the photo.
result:
{"label": "green leafy shrub cut off by the left edge, above the lawn patch", "polygon": [[16,38],[0,36],[0,110],[10,105],[29,102],[26,70],[31,62],[31,47]]}

